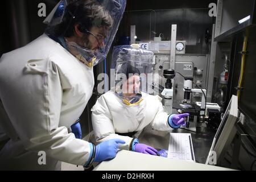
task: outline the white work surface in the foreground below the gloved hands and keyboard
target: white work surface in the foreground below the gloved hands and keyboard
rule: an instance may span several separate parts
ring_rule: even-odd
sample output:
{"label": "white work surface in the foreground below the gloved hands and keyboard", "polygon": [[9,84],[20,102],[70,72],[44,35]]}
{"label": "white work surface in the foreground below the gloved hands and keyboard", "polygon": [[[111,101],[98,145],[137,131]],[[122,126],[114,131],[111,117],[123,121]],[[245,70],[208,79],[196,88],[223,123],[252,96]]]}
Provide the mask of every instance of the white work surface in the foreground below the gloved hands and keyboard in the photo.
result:
{"label": "white work surface in the foreground below the gloved hands and keyboard", "polygon": [[93,170],[97,171],[224,171],[233,170],[188,162],[179,159],[169,159],[160,156],[141,154],[127,150],[120,150],[117,156],[109,161],[98,164]]}

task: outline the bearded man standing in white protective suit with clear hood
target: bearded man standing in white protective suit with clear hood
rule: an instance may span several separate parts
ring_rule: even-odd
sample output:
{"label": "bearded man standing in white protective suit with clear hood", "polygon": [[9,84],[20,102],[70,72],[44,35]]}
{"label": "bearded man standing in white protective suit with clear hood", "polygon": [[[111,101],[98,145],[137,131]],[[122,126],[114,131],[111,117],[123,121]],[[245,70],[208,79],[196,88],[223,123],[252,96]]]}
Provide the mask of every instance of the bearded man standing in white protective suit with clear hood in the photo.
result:
{"label": "bearded man standing in white protective suit with clear hood", "polygon": [[122,140],[81,140],[77,120],[92,96],[93,66],[105,59],[125,6],[60,1],[42,36],[1,57],[0,169],[60,169],[60,161],[90,167],[115,157]]}

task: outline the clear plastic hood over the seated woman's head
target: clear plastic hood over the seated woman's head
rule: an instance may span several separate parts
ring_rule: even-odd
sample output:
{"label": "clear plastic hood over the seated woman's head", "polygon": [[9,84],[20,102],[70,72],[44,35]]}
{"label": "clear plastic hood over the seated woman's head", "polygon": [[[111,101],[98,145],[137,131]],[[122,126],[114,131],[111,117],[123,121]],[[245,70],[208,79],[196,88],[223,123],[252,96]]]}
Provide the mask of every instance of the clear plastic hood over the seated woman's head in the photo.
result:
{"label": "clear plastic hood over the seated woman's head", "polygon": [[[154,53],[132,46],[113,49],[112,69],[115,69],[113,89],[126,105],[138,105],[152,86],[152,59]],[[144,97],[143,96],[143,97]]]}

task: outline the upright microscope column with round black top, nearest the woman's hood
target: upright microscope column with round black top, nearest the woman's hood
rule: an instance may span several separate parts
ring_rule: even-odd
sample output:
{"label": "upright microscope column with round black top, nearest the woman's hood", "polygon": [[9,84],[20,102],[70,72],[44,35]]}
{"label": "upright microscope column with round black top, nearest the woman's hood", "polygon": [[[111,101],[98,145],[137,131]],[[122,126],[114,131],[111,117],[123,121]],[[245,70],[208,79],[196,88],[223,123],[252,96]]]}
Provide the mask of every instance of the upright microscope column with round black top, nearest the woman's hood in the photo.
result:
{"label": "upright microscope column with round black top, nearest the woman's hood", "polygon": [[163,89],[161,95],[164,97],[164,110],[166,113],[172,113],[172,97],[174,96],[174,90],[172,89],[172,78],[175,77],[174,69],[164,69],[163,71],[164,78],[166,80],[166,86]]}

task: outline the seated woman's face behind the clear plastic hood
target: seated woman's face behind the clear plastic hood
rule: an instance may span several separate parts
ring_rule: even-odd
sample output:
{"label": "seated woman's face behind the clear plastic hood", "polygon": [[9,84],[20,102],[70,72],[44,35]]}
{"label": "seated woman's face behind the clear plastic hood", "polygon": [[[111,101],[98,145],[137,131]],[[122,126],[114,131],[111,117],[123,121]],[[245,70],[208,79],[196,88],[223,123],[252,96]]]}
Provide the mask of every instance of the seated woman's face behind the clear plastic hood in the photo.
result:
{"label": "seated woman's face behind the clear plastic hood", "polygon": [[134,96],[139,93],[139,86],[141,85],[141,80],[138,75],[129,77],[122,86],[122,92],[124,96]]}

